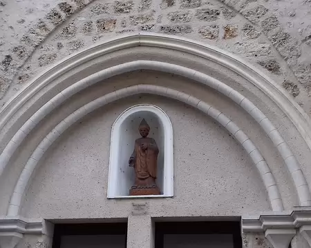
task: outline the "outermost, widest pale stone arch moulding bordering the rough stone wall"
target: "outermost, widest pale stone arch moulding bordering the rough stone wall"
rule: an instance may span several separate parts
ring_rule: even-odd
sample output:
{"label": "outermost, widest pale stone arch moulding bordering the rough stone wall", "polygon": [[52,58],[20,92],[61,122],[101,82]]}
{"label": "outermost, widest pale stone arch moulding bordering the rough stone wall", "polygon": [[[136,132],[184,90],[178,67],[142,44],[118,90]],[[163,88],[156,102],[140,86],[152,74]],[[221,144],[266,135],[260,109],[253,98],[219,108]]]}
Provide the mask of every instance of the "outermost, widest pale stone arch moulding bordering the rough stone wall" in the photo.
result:
{"label": "outermost, widest pale stone arch moulding bordering the rough stone wall", "polygon": [[[69,58],[62,59],[58,65],[48,68],[43,74],[37,76],[30,85],[27,85],[17,93],[15,98],[11,99],[4,105],[0,112],[0,130],[7,121],[26,101],[41,90],[43,87],[51,83],[54,79],[62,74],[73,70],[78,65],[82,65],[87,61],[126,48],[136,46],[147,46],[153,48],[167,48],[169,50],[182,51],[185,54],[193,54],[201,58],[208,59],[220,65],[229,68],[250,83],[258,87],[262,92],[272,99],[281,110],[290,118],[296,126],[301,136],[311,149],[311,121],[308,114],[269,76],[261,72],[247,61],[220,48],[207,43],[192,41],[185,37],[178,38],[167,34],[150,34],[148,32],[140,32],[138,34],[124,34],[117,39],[113,38],[106,43],[93,45],[91,48],[71,55]],[[187,59],[187,56],[185,56]],[[113,72],[111,72],[113,74]],[[179,73],[177,73],[179,74]]]}

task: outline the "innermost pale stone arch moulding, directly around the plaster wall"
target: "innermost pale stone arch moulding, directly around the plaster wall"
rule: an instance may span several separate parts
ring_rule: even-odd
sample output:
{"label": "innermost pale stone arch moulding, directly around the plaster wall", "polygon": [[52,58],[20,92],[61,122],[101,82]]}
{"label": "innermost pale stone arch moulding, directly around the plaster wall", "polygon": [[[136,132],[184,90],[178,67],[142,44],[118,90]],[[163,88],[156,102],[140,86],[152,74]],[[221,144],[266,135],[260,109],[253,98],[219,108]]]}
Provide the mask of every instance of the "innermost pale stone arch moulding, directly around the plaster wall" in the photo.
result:
{"label": "innermost pale stone arch moulding, directly around the plaster wall", "polygon": [[[177,90],[172,90],[167,87],[161,87],[156,85],[134,85],[131,87],[126,87],[125,89],[116,90],[115,92],[111,92],[104,96],[101,96],[98,99],[87,103],[86,105],[80,107],[78,110],[64,118],[64,121],[61,121],[47,136],[46,138],[50,142],[46,142],[46,139],[43,139],[41,143],[38,145],[37,149],[41,149],[46,151],[48,147],[55,141],[61,134],[66,130],[70,125],[73,125],[75,121],[79,118],[82,118],[89,112],[96,110],[98,107],[102,107],[108,103],[116,101],[117,99],[121,99],[126,96],[131,96],[134,94],[147,93],[147,94],[158,94],[160,96],[166,96],[171,99],[176,99],[178,101],[182,101],[183,103],[187,103],[192,105],[193,107],[198,108],[205,114],[209,115],[211,118],[214,118],[215,121],[218,121],[221,125],[225,127],[232,135],[236,138],[236,140],[241,143],[243,147],[255,147],[252,141],[243,133],[243,131],[238,127],[233,121],[229,120],[225,114],[219,112],[211,105],[200,101],[200,99],[196,99],[194,96],[190,96],[189,94],[185,94],[183,92],[178,92]],[[189,101],[190,99],[190,101]],[[220,121],[221,120],[221,121]],[[62,132],[57,132],[56,130],[62,130]],[[242,137],[242,138],[241,138]],[[245,143],[245,141],[248,141]],[[11,196],[10,205],[8,208],[8,216],[17,216],[19,214],[19,209],[21,207],[22,196],[25,193],[26,187],[30,180],[30,176],[32,172],[35,170],[37,163],[43,153],[37,152],[32,153],[28,162],[26,163],[23,172],[19,177],[17,185],[15,186],[15,190]],[[247,150],[247,149],[245,149]],[[252,161],[256,165],[261,166],[261,169],[258,169],[259,174],[261,174],[261,178],[263,180],[263,184],[267,189],[268,198],[270,199],[270,204],[274,211],[282,211],[283,203],[281,200],[281,194],[279,193],[279,189],[276,185],[276,181],[272,175],[270,168],[267,163],[265,163],[265,159],[261,156],[261,153],[258,149],[248,149],[252,150],[249,152],[249,156],[252,158]],[[36,155],[37,160],[34,158],[34,154]],[[41,154],[41,155],[40,155]],[[263,173],[264,172],[264,173]],[[266,178],[267,174],[270,175],[269,180]]]}

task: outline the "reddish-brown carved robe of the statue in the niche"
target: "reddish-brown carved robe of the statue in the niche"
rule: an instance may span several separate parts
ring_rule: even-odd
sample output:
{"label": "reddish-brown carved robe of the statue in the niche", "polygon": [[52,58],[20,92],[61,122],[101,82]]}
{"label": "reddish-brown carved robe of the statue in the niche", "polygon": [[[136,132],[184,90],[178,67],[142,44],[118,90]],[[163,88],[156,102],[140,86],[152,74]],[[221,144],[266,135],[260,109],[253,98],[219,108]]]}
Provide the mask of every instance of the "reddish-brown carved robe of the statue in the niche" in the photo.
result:
{"label": "reddish-brown carved robe of the statue in the niche", "polygon": [[[142,144],[148,145],[148,148],[144,151],[140,147]],[[131,158],[134,158],[136,178],[144,180],[151,176],[156,179],[158,153],[158,145],[153,138],[138,138],[135,141],[134,151]]]}

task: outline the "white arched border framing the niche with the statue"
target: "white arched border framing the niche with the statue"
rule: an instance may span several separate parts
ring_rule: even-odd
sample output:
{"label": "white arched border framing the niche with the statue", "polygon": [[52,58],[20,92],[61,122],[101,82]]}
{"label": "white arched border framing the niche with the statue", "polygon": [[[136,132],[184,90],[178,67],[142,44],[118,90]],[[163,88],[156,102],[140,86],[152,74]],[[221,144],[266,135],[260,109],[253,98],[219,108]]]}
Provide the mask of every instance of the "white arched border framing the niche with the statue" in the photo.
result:
{"label": "white arched border framing the niche with the statue", "polygon": [[[140,85],[138,85],[140,86]],[[149,85],[146,85],[149,86]],[[126,90],[129,89],[122,89],[117,90],[115,94],[117,95],[117,99],[122,99],[128,95]],[[96,100],[95,100],[96,101]],[[98,107],[102,105],[101,101],[97,101]],[[118,154],[118,147],[120,147],[120,126],[122,125],[123,121],[126,120],[131,114],[135,112],[152,112],[156,114],[162,125],[164,127],[164,187],[162,190],[163,194],[156,196],[117,196],[115,194],[115,187],[117,187],[117,174],[116,170],[117,167],[115,165],[115,161],[120,156]],[[71,123],[72,124],[72,123]],[[171,125],[171,121],[169,120],[169,116],[158,106],[150,105],[150,104],[140,104],[129,107],[127,110],[124,110],[120,116],[117,117],[115,122],[113,123],[113,127],[111,129],[111,147],[110,147],[110,158],[109,158],[109,176],[108,176],[108,189],[107,189],[107,198],[153,198],[153,197],[172,197],[173,196],[173,126]]]}

